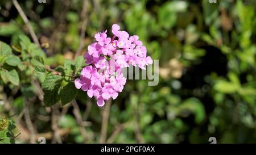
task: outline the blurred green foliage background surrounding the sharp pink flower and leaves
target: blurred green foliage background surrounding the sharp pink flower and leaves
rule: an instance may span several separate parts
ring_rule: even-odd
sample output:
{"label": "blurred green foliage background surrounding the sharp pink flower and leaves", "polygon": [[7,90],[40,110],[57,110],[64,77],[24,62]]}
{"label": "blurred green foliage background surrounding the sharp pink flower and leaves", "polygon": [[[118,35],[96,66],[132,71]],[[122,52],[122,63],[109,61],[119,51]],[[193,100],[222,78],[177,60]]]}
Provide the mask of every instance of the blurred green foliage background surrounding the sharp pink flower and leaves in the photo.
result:
{"label": "blurred green foliage background surrounding the sharp pink flower and leaves", "polygon": [[[82,27],[81,55],[94,33],[118,23],[159,60],[159,83],[129,79],[103,108],[84,91],[74,104],[45,107],[31,70],[19,86],[0,78],[0,117],[15,122],[15,143],[256,142],[255,1],[18,2],[52,69],[75,57]],[[1,0],[0,40],[15,48],[20,34],[30,37],[12,1]]]}

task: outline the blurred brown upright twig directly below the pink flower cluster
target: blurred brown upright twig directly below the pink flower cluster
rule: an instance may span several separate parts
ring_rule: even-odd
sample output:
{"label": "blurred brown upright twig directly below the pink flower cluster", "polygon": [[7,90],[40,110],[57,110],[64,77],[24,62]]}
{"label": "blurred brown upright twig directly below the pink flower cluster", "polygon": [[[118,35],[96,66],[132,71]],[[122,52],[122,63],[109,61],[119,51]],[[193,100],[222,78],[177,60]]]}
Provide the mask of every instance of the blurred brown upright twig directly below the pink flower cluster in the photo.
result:
{"label": "blurred brown upright twig directly below the pink flower cluster", "polygon": [[109,123],[109,112],[110,112],[111,104],[112,104],[112,99],[109,99],[106,102],[104,110],[102,112],[101,139],[100,139],[100,143],[102,144],[106,143],[106,136],[108,132],[108,123]]}

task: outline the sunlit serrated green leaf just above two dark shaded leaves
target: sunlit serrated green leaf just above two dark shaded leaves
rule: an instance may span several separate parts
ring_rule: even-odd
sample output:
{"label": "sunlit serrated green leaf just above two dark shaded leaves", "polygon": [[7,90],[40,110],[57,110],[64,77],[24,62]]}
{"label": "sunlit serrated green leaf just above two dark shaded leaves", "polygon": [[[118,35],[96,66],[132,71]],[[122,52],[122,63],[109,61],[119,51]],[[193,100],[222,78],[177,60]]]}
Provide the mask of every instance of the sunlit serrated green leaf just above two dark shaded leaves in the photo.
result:
{"label": "sunlit serrated green leaf just above two dark shaded leaves", "polygon": [[48,73],[42,83],[43,90],[53,90],[56,85],[60,85],[63,77]]}

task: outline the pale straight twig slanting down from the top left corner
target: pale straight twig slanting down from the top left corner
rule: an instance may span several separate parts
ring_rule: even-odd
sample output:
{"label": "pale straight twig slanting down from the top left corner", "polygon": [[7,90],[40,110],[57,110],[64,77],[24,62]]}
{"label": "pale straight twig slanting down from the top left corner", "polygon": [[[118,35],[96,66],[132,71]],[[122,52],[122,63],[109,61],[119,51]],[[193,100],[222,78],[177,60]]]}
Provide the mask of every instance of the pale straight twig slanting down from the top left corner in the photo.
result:
{"label": "pale straight twig slanting down from the top left corner", "polygon": [[14,4],[15,8],[18,10],[20,16],[22,17],[24,23],[26,24],[26,26],[28,28],[28,31],[30,31],[30,35],[31,35],[33,41],[36,43],[36,45],[38,47],[40,47],[40,43],[38,41],[38,38],[36,37],[36,34],[35,34],[32,26],[30,25],[30,23],[27,19],[27,16],[24,14],[24,11],[22,10],[22,8],[20,7],[19,3],[16,0],[12,0],[12,1],[13,1],[13,4]]}

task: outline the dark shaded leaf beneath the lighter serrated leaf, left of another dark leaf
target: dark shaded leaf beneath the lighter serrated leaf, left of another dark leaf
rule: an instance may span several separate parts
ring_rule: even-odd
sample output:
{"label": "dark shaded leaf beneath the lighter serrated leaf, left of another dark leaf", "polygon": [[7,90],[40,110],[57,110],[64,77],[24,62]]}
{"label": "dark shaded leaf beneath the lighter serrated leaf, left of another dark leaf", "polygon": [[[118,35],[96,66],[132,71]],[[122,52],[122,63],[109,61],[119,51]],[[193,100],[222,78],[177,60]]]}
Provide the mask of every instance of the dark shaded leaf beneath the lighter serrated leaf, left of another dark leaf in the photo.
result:
{"label": "dark shaded leaf beneath the lighter serrated leaf, left of another dark leaf", "polygon": [[49,107],[56,104],[59,101],[59,87],[55,87],[53,90],[44,91],[44,104]]}

